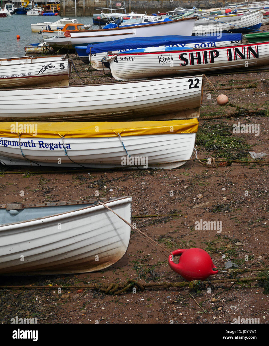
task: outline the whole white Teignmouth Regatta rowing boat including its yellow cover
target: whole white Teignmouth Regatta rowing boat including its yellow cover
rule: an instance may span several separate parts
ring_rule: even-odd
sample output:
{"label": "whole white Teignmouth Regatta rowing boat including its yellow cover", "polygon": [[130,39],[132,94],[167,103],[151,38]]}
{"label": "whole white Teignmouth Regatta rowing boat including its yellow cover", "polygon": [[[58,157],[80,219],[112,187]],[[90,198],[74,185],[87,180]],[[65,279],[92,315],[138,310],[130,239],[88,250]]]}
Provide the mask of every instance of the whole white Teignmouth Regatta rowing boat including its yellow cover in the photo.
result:
{"label": "whole white Teignmouth Regatta rowing boat including its yellow cover", "polygon": [[190,159],[198,120],[0,124],[0,162],[94,168],[175,168]]}

